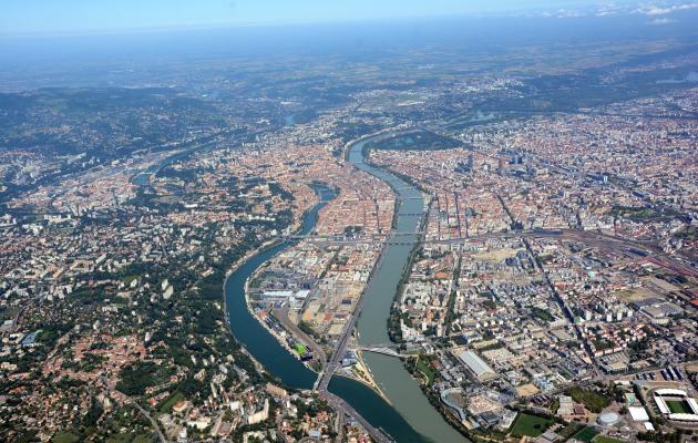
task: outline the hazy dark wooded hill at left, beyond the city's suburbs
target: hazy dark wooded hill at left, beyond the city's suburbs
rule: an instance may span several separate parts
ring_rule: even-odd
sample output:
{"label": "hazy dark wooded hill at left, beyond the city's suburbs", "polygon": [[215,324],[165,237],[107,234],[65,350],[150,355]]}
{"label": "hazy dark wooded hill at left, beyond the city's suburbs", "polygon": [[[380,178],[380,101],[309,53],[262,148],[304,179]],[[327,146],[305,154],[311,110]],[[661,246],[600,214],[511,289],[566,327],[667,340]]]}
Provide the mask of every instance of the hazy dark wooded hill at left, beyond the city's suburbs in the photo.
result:
{"label": "hazy dark wooded hill at left, beyond the city's suburbs", "polygon": [[[99,157],[225,126],[219,110],[174,89],[42,89],[0,94],[0,150]],[[104,155],[105,154],[105,155]]]}

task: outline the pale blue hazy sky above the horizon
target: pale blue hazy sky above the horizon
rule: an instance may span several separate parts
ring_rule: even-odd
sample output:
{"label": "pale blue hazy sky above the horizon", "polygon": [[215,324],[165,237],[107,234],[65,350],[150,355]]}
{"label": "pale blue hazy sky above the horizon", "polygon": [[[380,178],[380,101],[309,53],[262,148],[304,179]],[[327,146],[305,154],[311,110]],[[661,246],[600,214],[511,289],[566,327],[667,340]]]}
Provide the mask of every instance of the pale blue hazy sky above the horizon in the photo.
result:
{"label": "pale blue hazy sky above the horizon", "polygon": [[698,1],[633,0],[0,0],[0,35],[292,24],[453,16],[645,14],[657,24]]}

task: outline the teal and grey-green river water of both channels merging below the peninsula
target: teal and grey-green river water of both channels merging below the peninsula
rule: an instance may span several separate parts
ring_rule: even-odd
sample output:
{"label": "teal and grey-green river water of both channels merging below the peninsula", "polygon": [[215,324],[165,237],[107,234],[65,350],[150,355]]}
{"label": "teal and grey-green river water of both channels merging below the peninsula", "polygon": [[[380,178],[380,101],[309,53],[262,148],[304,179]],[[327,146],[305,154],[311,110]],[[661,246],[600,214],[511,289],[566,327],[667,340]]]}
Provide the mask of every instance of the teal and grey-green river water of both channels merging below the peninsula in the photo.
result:
{"label": "teal and grey-green river water of both channels merging below the peninsula", "polygon": [[[363,146],[369,141],[357,142],[350,147],[349,162],[397,190],[400,205],[393,231],[415,233],[424,213],[421,193],[403,179],[366,163]],[[321,202],[306,214],[301,234],[312,230],[318,212],[327,200],[335,197],[329,188],[317,187],[316,190]],[[376,270],[367,288],[366,302],[357,327],[361,344],[390,342],[387,330],[390,307],[418,236],[401,236],[400,240],[400,245],[387,246],[380,268]],[[312,389],[317,373],[291,356],[253,317],[245,300],[245,281],[259,266],[291,246],[292,243],[283,243],[264,249],[230,274],[225,282],[226,308],[233,334],[267,371],[289,387]],[[332,393],[345,399],[373,426],[382,429],[397,442],[466,442],[429,403],[399,359],[370,352],[365,352],[363,358],[390,403],[370,388],[346,377],[332,378],[329,385]]]}

